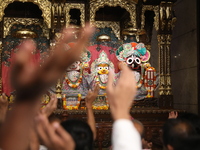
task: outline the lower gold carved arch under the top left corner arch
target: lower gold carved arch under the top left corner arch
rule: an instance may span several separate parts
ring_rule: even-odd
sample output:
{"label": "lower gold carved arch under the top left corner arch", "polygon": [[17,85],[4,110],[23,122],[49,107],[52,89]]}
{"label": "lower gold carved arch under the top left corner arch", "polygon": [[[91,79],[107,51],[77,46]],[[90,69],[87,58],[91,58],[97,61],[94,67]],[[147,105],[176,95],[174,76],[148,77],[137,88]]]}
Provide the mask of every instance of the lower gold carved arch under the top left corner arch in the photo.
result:
{"label": "lower gold carved arch under the top left corner arch", "polygon": [[41,19],[35,19],[35,18],[10,18],[10,17],[4,17],[4,31],[3,31],[3,38],[6,38],[7,35],[10,35],[10,28],[14,24],[22,24],[25,26],[34,24],[39,25],[43,30],[43,35],[47,39],[49,39],[49,30],[46,26],[46,24],[43,23]]}

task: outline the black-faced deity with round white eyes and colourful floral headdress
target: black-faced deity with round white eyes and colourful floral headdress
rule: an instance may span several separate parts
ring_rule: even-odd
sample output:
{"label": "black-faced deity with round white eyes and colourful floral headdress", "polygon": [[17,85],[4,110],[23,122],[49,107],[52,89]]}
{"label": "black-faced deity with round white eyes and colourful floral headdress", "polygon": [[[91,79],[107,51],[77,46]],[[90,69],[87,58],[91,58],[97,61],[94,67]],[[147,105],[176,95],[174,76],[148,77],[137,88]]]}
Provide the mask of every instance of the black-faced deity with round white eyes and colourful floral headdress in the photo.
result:
{"label": "black-faced deity with round white eyes and colourful floral headdress", "polygon": [[135,100],[153,98],[158,79],[155,68],[148,62],[150,52],[144,44],[135,42],[123,44],[116,51],[116,57],[133,71],[137,82]]}

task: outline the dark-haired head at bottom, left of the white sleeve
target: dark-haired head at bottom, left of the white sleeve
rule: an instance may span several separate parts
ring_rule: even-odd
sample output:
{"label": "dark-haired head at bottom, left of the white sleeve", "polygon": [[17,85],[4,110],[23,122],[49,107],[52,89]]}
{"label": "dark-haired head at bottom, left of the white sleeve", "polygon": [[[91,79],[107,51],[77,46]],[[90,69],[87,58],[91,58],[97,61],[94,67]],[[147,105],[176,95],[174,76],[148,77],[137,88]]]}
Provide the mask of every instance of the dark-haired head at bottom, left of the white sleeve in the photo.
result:
{"label": "dark-haired head at bottom, left of the white sleeve", "polygon": [[74,139],[75,150],[93,149],[93,133],[86,122],[71,119],[62,122],[61,125]]}

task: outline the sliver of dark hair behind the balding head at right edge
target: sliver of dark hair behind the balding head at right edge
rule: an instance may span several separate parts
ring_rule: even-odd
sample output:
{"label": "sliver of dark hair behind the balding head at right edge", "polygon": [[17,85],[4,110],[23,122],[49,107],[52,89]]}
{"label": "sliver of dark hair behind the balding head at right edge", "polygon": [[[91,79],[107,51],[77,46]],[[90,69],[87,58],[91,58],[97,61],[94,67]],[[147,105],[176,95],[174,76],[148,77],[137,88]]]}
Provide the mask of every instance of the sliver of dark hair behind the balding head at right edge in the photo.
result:
{"label": "sliver of dark hair behind the balding head at right edge", "polygon": [[200,135],[200,117],[193,113],[184,113],[178,116],[178,119],[189,121]]}

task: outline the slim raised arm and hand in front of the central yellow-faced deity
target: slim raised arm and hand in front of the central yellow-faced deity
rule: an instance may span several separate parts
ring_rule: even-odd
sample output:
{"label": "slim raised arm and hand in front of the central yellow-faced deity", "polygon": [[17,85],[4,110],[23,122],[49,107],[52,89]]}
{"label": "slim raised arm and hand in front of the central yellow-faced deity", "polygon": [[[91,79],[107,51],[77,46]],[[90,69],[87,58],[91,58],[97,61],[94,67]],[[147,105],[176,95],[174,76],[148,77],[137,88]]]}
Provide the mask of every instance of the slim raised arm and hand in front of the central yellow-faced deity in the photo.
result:
{"label": "slim raised arm and hand in front of the central yellow-faced deity", "polygon": [[94,88],[94,91],[89,90],[88,94],[85,98],[86,102],[86,110],[87,110],[87,122],[93,132],[93,138],[96,139],[96,124],[95,124],[95,118],[94,113],[92,109],[92,104],[94,100],[96,99],[97,95],[99,93],[99,85],[96,85]]}

